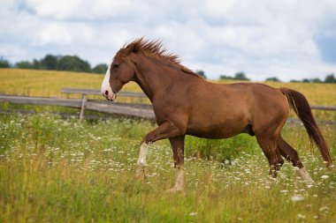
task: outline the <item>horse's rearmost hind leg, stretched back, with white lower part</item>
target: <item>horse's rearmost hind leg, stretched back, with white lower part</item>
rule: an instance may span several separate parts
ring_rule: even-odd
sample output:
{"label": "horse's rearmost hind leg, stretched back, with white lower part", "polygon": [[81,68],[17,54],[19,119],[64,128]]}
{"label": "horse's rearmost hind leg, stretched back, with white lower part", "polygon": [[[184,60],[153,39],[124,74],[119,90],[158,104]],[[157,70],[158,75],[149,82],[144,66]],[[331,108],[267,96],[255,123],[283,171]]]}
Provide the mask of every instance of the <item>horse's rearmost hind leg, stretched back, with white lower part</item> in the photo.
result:
{"label": "horse's rearmost hind leg, stretched back, with white lower part", "polygon": [[292,162],[294,167],[298,167],[298,174],[301,175],[302,179],[309,183],[314,183],[314,181],[311,179],[309,173],[307,172],[306,167],[303,166],[302,161],[299,158],[299,154],[294,150],[294,148],[287,144],[286,141],[279,136],[277,139],[277,145],[279,152],[283,157],[286,158],[286,160]]}

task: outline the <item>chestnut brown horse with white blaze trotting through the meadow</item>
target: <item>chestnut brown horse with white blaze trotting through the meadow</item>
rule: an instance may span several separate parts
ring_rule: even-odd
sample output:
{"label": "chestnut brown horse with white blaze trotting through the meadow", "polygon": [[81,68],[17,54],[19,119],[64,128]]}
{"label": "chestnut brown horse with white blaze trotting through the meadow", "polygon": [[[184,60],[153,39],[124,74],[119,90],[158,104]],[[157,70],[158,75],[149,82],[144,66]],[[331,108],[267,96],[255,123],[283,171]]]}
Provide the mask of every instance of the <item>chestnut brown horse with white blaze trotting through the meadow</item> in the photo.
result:
{"label": "chestnut brown horse with white blaze trotting through the meadow", "polygon": [[186,135],[218,139],[248,133],[263,150],[271,177],[277,176],[285,158],[297,167],[305,182],[313,184],[298,152],[281,136],[290,109],[302,121],[310,143],[316,143],[326,166],[332,167],[329,147],[302,93],[257,83],[211,83],[183,66],[179,56],[168,53],[162,41],[143,37],[126,43],[113,57],[103,78],[103,97],[116,100],[129,81],[137,83],[148,96],[157,123],[157,128],[142,138],[135,175],[145,178],[149,144],[168,138],[176,169],[175,184],[168,192],[184,189]]}

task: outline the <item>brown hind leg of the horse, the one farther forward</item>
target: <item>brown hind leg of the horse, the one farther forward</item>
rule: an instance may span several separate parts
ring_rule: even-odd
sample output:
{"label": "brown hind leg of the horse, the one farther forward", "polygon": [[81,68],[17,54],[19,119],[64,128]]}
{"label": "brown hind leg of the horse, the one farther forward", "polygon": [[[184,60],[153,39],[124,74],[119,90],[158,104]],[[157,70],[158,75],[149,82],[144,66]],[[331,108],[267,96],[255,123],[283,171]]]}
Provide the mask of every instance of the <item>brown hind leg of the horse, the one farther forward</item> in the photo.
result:
{"label": "brown hind leg of the horse, the one farther forward", "polygon": [[256,140],[260,147],[263,150],[263,154],[266,156],[269,164],[270,164],[270,173],[272,177],[277,177],[277,174],[280,170],[280,167],[284,163],[279,150],[277,149],[277,143],[275,137],[258,137],[256,136]]}

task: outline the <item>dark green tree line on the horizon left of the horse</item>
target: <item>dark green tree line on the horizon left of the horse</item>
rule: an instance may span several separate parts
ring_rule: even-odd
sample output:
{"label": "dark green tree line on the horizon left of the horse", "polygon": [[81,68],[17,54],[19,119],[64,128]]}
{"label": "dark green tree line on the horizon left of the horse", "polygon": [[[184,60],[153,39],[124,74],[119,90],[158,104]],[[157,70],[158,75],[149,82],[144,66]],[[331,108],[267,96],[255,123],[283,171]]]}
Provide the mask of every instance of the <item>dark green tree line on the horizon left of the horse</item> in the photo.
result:
{"label": "dark green tree line on the horizon left of the horse", "polygon": [[32,62],[20,61],[18,63],[14,63],[13,65],[11,65],[11,63],[7,60],[0,59],[0,68],[105,73],[108,67],[105,63],[99,63],[95,67],[91,68],[90,63],[80,59],[79,56],[47,55],[41,60],[34,59]]}

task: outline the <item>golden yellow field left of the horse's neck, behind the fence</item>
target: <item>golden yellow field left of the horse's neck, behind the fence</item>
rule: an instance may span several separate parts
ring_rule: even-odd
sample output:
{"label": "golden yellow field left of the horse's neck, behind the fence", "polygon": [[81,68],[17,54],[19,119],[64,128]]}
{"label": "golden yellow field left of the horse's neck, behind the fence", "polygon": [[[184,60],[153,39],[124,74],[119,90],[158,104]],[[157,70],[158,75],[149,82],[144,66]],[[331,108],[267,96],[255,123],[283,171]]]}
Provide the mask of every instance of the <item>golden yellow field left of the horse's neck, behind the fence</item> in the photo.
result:
{"label": "golden yellow field left of the horse's neck, behind the fence", "polygon": [[[0,69],[0,93],[60,97],[62,87],[100,89],[103,75],[69,71],[37,71]],[[141,91],[135,83],[126,85],[125,91]]]}

